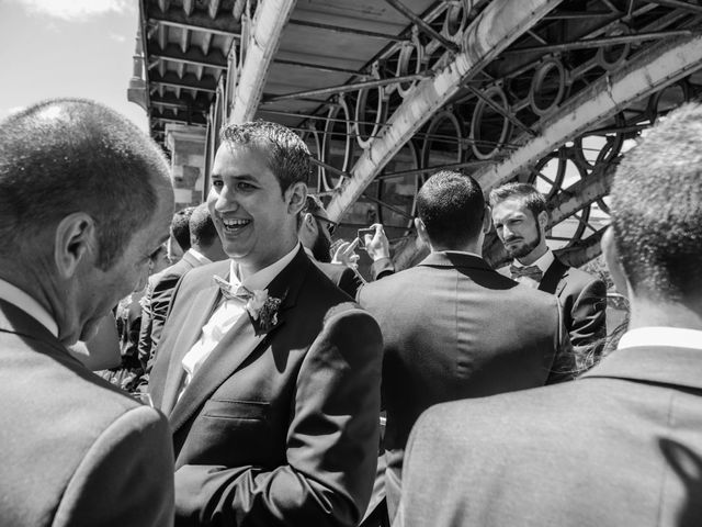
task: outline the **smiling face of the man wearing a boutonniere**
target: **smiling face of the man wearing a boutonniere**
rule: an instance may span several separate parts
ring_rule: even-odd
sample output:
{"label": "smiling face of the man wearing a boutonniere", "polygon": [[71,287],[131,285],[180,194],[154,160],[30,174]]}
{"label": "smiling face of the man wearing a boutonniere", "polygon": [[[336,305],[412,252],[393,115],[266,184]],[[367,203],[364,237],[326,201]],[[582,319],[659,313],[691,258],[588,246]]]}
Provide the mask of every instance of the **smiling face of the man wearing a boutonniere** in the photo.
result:
{"label": "smiling face of the man wearing a boutonniere", "polygon": [[296,216],[258,147],[223,143],[212,168],[207,205],[224,251],[252,271],[297,242]]}

